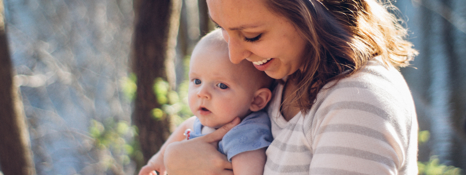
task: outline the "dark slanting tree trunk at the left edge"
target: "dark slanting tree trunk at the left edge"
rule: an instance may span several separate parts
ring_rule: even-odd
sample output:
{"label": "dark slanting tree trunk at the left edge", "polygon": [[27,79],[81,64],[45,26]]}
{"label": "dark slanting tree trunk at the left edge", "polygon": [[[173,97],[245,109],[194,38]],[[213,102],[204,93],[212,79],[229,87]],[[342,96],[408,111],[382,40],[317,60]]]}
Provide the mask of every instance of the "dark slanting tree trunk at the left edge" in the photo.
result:
{"label": "dark slanting tree trunk at the left edge", "polygon": [[12,77],[0,0],[0,165],[4,175],[34,175],[26,118]]}

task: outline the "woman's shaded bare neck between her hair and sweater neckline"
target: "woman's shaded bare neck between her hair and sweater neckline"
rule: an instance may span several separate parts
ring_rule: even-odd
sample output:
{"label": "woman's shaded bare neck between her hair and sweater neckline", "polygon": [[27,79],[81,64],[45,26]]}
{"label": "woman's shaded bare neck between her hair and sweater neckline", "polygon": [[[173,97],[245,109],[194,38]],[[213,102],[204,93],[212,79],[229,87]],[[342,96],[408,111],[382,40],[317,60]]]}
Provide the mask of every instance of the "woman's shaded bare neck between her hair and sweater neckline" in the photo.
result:
{"label": "woman's shaded bare neck between her hair and sweater neckline", "polygon": [[289,78],[285,83],[285,86],[283,87],[283,92],[281,94],[281,104],[283,104],[281,106],[281,115],[283,115],[283,117],[287,121],[295,117],[295,115],[298,114],[300,110],[296,101],[291,103],[291,101],[296,96],[296,89],[297,86],[295,79]]}

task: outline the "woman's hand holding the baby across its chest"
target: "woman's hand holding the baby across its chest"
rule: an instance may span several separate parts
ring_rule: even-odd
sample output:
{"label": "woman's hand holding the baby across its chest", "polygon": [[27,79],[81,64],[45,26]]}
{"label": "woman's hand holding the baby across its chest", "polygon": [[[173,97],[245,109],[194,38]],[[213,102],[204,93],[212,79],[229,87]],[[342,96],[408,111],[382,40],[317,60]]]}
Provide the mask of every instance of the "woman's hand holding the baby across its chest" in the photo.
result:
{"label": "woman's hand holding the baby across its chest", "polygon": [[213,133],[167,146],[164,164],[169,175],[233,175],[232,163],[217,148],[219,140],[240,123],[239,118]]}

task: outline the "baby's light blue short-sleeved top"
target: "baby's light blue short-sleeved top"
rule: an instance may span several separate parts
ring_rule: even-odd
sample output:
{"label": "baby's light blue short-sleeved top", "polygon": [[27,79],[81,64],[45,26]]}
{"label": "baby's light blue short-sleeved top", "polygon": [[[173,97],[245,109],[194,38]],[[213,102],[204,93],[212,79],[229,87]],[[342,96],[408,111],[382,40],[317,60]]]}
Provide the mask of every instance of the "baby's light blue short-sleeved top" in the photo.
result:
{"label": "baby's light blue short-sleeved top", "polygon": [[[189,138],[196,138],[201,135],[203,125],[198,118],[194,121],[194,131]],[[236,154],[268,147],[272,142],[272,132],[270,130],[270,119],[267,112],[261,110],[246,116],[240,124],[234,126],[219,141],[219,151],[232,161]]]}

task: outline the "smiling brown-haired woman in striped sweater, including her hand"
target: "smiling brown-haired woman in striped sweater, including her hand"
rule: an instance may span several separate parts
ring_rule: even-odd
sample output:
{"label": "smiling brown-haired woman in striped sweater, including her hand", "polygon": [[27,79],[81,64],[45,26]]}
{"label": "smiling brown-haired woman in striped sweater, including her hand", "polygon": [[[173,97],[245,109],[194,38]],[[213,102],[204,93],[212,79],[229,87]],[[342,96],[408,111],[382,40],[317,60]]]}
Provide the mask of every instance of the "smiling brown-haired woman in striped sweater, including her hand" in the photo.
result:
{"label": "smiling brown-haired woman in striped sweater, including her hand", "polygon": [[[264,175],[416,175],[417,119],[398,67],[417,52],[375,0],[207,0],[228,42],[281,79],[268,107]],[[279,81],[280,82],[280,81]],[[169,145],[169,175],[233,174],[216,141],[236,123]],[[209,153],[209,154],[206,154]]]}

